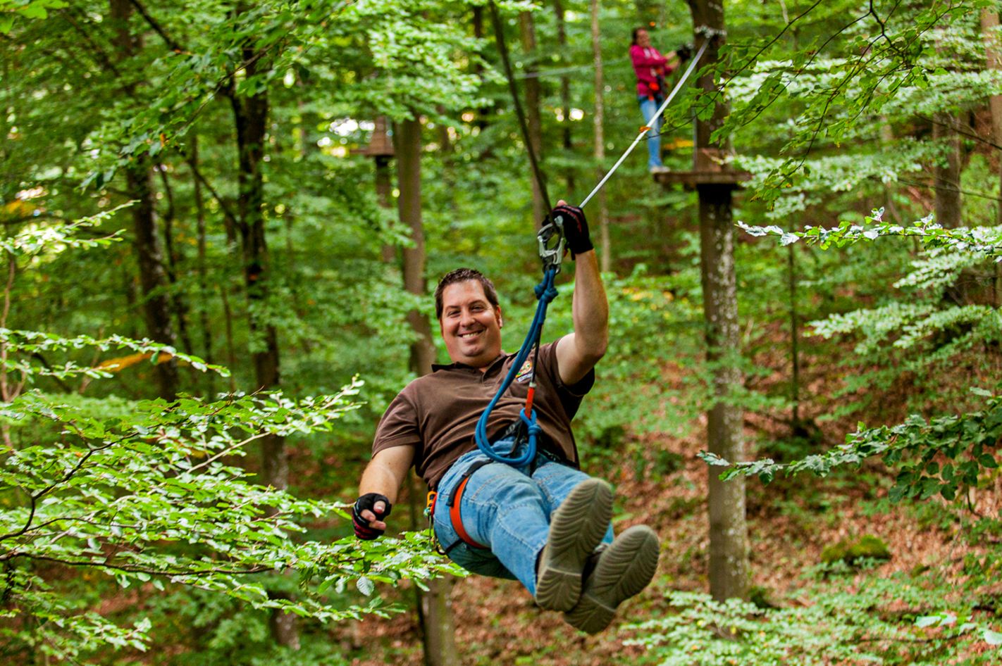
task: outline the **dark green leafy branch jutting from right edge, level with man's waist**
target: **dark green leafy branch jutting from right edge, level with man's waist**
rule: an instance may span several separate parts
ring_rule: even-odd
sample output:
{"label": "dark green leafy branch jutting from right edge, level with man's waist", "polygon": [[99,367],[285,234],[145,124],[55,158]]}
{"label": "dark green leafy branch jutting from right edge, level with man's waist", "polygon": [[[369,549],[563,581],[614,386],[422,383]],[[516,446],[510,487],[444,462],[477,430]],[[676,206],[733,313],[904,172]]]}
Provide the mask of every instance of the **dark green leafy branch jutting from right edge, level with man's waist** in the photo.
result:
{"label": "dark green leafy branch jutting from right edge, level with man's waist", "polygon": [[[1002,439],[1002,398],[972,391],[988,397],[983,410],[930,421],[914,414],[892,427],[867,429],[860,424],[857,432],[846,437],[846,444],[794,463],[781,464],[772,459],[730,463],[703,451],[698,456],[708,465],[727,468],[721,480],[758,476],[769,483],[778,472],[787,476],[810,472],[825,477],[843,465],[859,468],[866,459],[882,455],[889,466],[900,465],[890,493],[893,501],[925,500],[937,494],[953,500],[959,490],[976,487],[998,469],[994,452]],[[941,465],[940,461],[945,463]]]}

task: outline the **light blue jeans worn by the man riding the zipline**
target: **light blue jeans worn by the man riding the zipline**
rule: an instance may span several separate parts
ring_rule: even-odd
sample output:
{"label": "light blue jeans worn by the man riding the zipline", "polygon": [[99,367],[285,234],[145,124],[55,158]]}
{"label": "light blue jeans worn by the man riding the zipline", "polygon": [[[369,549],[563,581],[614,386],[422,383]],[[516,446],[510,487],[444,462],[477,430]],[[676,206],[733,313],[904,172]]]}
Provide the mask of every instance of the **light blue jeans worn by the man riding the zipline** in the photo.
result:
{"label": "light blue jeans worn by the man riding the zipline", "polygon": [[[508,456],[512,443],[512,439],[505,439],[492,446]],[[535,596],[536,558],[546,545],[550,515],[588,475],[554,463],[543,454],[536,455],[535,471],[531,465],[514,468],[503,463],[480,468],[470,476],[460,502],[463,529],[478,544],[489,546],[473,548],[456,534],[446,505],[470,466],[486,460],[479,450],[463,454],[442,478],[435,505],[435,535],[443,548],[460,542],[449,551],[449,558],[467,571],[519,580]],[[611,524],[603,541],[612,541]]]}

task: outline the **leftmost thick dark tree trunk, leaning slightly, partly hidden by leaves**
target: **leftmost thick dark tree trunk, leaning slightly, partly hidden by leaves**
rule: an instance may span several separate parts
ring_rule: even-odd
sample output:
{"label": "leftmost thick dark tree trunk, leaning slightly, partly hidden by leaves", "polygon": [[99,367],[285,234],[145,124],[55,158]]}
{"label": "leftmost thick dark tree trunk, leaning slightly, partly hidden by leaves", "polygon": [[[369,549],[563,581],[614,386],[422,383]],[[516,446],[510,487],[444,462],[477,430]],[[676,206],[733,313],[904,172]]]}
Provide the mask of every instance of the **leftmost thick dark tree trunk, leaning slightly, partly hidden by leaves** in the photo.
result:
{"label": "leftmost thick dark tree trunk, leaning slightly, partly hidden by leaves", "polygon": [[[128,18],[132,13],[132,4],[129,0],[110,0],[108,9],[115,31],[114,44],[118,60],[121,62],[131,58],[142,47],[142,38],[132,35],[129,31]],[[122,87],[130,91],[132,83],[122,81]],[[139,264],[139,285],[143,296],[142,310],[146,321],[146,335],[154,343],[173,347],[174,330],[170,321],[170,305],[165,294],[167,278],[163,269],[163,253],[157,230],[152,162],[149,155],[143,153],[136,156],[123,171],[128,196],[135,200],[130,210],[132,231],[135,235],[133,246]],[[174,400],[177,394],[176,361],[170,359],[157,364],[155,376],[157,395],[166,401]]]}

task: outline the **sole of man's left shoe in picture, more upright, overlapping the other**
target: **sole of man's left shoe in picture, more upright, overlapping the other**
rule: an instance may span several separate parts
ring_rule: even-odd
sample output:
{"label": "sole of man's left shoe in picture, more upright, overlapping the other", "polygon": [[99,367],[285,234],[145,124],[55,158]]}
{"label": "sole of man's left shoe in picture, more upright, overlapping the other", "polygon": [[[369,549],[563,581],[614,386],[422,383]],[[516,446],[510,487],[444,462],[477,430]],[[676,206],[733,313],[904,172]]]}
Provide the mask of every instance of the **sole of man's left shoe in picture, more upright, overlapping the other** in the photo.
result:
{"label": "sole of man's left shoe in picture, more upright, overlapping the other", "polygon": [[553,512],[540,560],[536,603],[548,611],[569,611],[581,598],[581,571],[602,542],[612,520],[612,488],[587,479]]}

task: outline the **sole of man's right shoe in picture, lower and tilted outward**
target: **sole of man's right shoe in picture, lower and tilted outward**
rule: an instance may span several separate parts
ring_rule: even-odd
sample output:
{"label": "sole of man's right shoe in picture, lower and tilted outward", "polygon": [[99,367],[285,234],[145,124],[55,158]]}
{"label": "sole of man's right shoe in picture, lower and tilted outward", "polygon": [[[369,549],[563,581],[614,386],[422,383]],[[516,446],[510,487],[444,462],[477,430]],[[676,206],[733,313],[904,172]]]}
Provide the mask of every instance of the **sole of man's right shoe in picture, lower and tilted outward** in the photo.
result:
{"label": "sole of man's right shoe in picture, lower and tilted outward", "polygon": [[657,535],[637,525],[623,532],[600,556],[581,599],[564,619],[575,629],[597,634],[609,626],[616,607],[638,594],[657,571]]}

